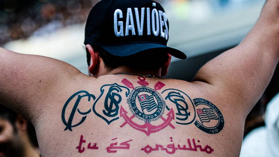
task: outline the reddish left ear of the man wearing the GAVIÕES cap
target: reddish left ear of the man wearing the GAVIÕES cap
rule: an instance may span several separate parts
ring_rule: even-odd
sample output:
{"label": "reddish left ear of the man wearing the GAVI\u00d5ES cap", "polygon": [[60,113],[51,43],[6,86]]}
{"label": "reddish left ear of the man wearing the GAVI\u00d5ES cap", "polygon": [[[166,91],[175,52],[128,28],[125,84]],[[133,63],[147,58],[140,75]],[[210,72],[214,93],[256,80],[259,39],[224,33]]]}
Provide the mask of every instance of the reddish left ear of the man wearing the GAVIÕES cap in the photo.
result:
{"label": "reddish left ear of the man wearing the GAVI\u00d5ES cap", "polygon": [[91,65],[89,66],[89,72],[91,74],[96,74],[97,73],[97,67],[100,63],[100,58],[99,58],[99,54],[97,51],[94,51],[94,49],[91,47],[91,45],[87,44],[86,45],[87,50],[89,51],[90,55],[91,55]]}

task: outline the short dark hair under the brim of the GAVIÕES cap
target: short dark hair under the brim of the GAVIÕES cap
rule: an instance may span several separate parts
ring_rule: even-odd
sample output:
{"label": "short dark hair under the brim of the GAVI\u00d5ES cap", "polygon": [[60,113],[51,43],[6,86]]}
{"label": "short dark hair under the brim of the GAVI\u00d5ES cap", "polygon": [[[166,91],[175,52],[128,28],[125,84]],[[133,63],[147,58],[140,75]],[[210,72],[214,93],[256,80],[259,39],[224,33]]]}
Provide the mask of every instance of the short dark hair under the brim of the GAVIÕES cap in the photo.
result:
{"label": "short dark hair under the brim of the GAVI\u00d5ES cap", "polygon": [[[106,68],[110,71],[120,66],[128,66],[132,69],[160,69],[169,59],[167,52],[161,51],[161,49],[148,50],[139,52],[125,57],[118,57],[108,53],[100,46],[92,46],[95,51],[99,53],[99,56],[103,59]],[[87,64],[90,66],[91,55],[86,49]]]}

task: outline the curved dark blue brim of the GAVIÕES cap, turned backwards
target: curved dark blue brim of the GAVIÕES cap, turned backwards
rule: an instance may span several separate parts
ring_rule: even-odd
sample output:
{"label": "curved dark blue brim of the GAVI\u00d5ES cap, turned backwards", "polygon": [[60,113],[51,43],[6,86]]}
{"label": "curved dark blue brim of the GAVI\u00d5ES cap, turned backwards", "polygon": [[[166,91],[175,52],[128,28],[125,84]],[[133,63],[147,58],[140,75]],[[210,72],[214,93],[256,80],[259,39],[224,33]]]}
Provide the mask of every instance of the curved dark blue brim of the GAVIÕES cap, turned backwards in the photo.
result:
{"label": "curved dark blue brim of the GAVI\u00d5ES cap, turned backwards", "polygon": [[133,44],[109,45],[109,46],[102,45],[101,47],[104,50],[108,51],[110,54],[119,57],[130,56],[132,54],[136,54],[142,51],[156,50],[156,51],[167,52],[173,57],[179,59],[184,60],[187,58],[187,56],[182,51],[167,47],[165,45],[155,44],[155,43],[133,43]]}

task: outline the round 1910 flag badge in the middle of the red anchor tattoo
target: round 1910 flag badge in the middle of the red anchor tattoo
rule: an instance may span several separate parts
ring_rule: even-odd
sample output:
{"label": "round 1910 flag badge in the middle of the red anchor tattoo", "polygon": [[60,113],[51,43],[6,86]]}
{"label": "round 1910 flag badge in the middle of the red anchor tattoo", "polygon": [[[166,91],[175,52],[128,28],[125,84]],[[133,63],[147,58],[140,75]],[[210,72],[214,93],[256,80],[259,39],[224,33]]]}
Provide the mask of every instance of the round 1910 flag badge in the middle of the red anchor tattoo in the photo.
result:
{"label": "round 1910 flag badge in the middle of the red anchor tattoo", "polygon": [[146,86],[134,88],[127,99],[127,103],[133,115],[145,123],[159,119],[166,106],[166,102],[161,95]]}

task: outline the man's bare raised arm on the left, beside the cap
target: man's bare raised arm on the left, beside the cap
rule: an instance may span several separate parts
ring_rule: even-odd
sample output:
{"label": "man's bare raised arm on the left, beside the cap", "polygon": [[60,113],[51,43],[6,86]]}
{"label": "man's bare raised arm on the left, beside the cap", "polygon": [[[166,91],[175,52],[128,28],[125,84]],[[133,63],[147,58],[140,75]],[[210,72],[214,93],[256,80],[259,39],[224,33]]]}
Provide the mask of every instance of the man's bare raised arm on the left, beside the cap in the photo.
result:
{"label": "man's bare raised arm on the left, beside the cap", "polygon": [[62,61],[0,48],[0,103],[36,119],[57,89],[78,74],[78,69]]}

